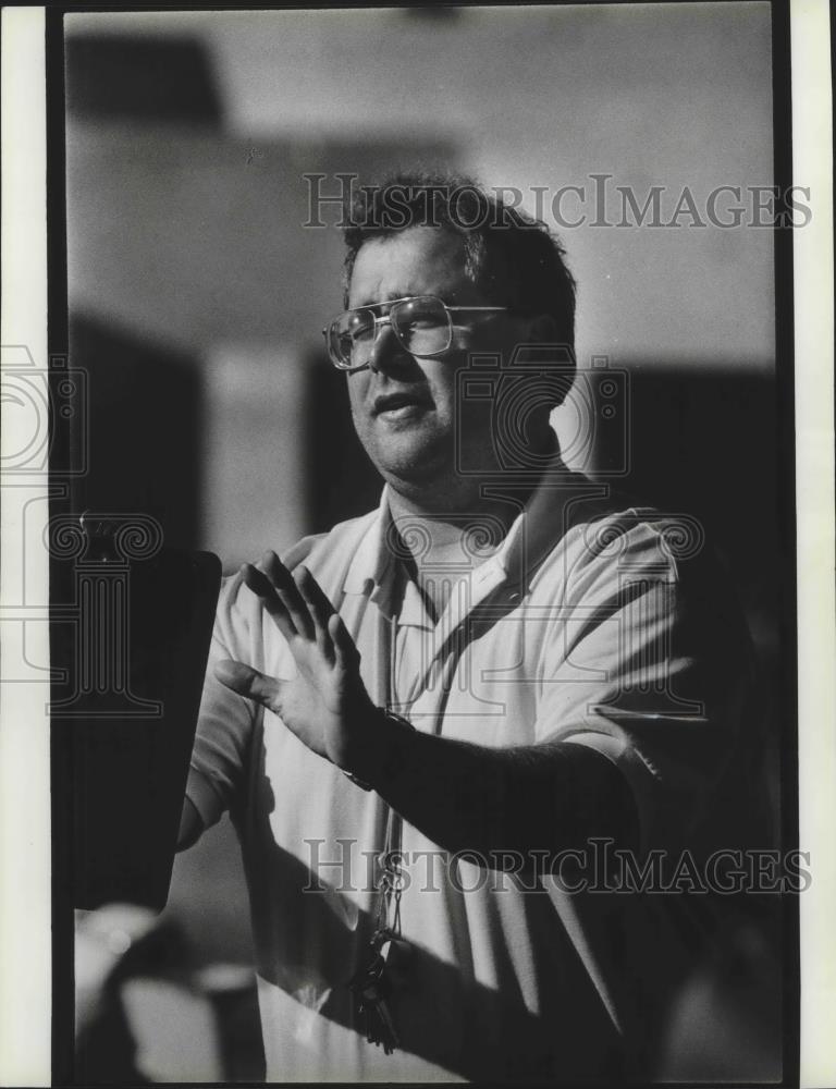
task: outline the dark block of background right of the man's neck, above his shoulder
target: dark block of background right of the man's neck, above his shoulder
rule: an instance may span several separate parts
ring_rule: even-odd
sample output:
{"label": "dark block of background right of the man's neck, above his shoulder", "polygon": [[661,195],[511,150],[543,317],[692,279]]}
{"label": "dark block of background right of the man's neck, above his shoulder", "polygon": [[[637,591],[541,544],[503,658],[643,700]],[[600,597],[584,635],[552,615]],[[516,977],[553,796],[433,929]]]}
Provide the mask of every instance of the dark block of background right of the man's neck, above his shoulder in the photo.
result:
{"label": "dark block of background right of the man's neck, above his shoulder", "polygon": [[[752,637],[775,664],[780,579],[780,466],[775,381],[765,368],[699,360],[628,363],[629,474],[641,502],[700,519],[725,556]],[[604,449],[602,466],[612,455]]]}

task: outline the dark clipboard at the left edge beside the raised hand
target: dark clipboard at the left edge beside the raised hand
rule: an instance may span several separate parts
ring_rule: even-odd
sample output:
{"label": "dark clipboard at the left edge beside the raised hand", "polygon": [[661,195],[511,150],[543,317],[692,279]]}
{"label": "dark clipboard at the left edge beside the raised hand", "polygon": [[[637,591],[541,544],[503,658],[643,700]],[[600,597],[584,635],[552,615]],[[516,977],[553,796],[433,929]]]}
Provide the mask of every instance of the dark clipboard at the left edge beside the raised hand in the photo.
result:
{"label": "dark clipboard at the left edge beside the raised hand", "polygon": [[78,908],[168,897],[221,565],[164,536],[140,512],[50,519],[53,767]]}

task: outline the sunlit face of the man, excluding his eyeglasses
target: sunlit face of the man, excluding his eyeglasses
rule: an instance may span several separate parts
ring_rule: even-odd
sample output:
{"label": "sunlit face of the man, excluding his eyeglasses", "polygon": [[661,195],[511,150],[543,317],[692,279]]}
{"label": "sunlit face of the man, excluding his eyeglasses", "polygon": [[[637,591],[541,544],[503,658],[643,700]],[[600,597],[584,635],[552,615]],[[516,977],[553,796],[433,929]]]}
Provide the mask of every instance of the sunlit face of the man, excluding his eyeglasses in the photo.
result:
{"label": "sunlit face of the man, excluding his eyeglasses", "polygon": [[[452,232],[415,227],[361,246],[354,266],[349,307],[408,295],[437,295],[448,306],[488,306],[465,274],[465,249]],[[398,485],[442,484],[455,472],[456,372],[467,350],[495,344],[505,315],[456,315],[456,325],[479,318],[464,343],[440,358],[409,355],[391,326],[380,327],[370,366],[348,375],[354,426],[381,475]],[[496,345],[495,350],[500,350]],[[468,433],[468,444],[490,437]]]}

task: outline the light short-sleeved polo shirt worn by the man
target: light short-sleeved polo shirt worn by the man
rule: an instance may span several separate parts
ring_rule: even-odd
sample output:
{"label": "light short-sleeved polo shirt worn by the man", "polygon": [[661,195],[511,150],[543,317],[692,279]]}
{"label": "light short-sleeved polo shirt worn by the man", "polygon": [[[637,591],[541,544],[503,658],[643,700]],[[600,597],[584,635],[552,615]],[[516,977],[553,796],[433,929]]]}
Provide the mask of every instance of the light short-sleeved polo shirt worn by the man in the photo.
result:
{"label": "light short-sleeved polo shirt worn by the man", "polygon": [[[643,844],[688,843],[721,797],[747,805],[739,779],[724,786],[751,744],[746,636],[713,567],[689,588],[706,559],[696,523],[603,492],[546,479],[490,559],[432,572],[454,584],[438,624],[413,583],[397,592],[385,491],[285,559],[304,559],[339,610],[376,702],[477,745],[595,748],[626,776]],[[533,890],[409,824],[402,1047],[369,1044],[346,982],[374,929],[386,806],[217,682],[230,658],[294,672],[239,576],[218,608],[187,793],[207,827],[229,809],[241,839],[268,1080],[616,1078],[625,1044],[639,1062],[660,975],[688,955],[671,897],[573,894],[553,878]]]}

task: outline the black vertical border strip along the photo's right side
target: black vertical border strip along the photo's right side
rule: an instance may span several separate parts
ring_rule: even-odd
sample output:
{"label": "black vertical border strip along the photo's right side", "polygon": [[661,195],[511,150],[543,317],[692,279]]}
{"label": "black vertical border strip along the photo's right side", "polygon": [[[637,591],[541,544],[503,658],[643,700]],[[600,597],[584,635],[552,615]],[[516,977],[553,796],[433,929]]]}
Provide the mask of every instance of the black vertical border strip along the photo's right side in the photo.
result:
{"label": "black vertical border strip along the photo's right side", "polygon": [[[774,184],[779,195],[792,184],[792,73],[788,0],[772,3],[772,90],[775,139]],[[777,206],[780,208],[782,200]],[[792,230],[780,225],[775,240],[775,356],[777,400],[778,534],[784,570],[780,573],[782,698],[780,730],[782,848],[799,846],[798,813],[798,611],[796,599],[796,417],[795,320],[792,311]],[[784,902],[784,1085],[798,1085],[800,1067],[800,947],[798,898]]]}

